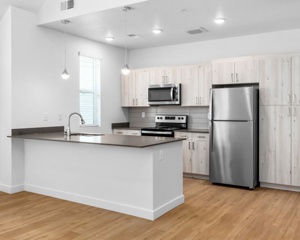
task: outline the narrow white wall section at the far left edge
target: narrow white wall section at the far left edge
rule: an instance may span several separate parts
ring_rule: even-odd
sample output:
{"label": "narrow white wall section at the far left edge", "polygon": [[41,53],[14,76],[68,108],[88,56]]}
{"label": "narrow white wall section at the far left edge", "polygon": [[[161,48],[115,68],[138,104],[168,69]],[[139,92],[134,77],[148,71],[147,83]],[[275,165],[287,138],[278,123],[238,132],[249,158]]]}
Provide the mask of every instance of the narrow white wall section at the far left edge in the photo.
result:
{"label": "narrow white wall section at the far left edge", "polygon": [[0,21],[0,190],[11,186],[11,8]]}

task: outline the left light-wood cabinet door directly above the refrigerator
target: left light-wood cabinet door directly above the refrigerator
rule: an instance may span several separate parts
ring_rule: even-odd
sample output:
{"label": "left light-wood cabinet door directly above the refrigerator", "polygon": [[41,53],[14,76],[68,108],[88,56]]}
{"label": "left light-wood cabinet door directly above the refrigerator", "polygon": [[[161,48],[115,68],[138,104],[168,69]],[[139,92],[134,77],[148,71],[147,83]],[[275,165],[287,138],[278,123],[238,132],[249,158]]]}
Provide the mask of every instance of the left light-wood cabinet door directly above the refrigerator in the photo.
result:
{"label": "left light-wood cabinet door directly above the refrigerator", "polygon": [[234,83],[234,62],[213,63],[212,84]]}

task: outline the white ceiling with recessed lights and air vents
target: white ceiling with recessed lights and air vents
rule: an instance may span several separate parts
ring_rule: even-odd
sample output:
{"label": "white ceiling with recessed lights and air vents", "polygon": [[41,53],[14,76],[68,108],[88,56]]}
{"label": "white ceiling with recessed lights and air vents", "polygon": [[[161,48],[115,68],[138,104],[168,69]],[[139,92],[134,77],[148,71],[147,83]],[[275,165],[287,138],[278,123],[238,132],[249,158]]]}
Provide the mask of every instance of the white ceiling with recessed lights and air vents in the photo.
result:
{"label": "white ceiling with recessed lights and air vents", "polygon": [[[3,1],[3,0],[1,0]],[[37,12],[46,0],[4,0]],[[75,5],[76,6],[76,5]],[[183,44],[300,28],[300,0],[149,0],[128,5],[128,49]],[[1,9],[1,5],[0,5]],[[184,13],[180,10],[184,9]],[[0,13],[1,14],[1,13]],[[1,17],[1,15],[0,15]],[[223,24],[214,22],[225,18]],[[125,12],[121,7],[72,17],[67,33],[105,44],[125,47]],[[41,26],[64,31],[60,20]],[[202,27],[208,32],[189,35],[183,29]],[[152,29],[163,29],[160,34]],[[115,39],[105,40],[106,36]]]}

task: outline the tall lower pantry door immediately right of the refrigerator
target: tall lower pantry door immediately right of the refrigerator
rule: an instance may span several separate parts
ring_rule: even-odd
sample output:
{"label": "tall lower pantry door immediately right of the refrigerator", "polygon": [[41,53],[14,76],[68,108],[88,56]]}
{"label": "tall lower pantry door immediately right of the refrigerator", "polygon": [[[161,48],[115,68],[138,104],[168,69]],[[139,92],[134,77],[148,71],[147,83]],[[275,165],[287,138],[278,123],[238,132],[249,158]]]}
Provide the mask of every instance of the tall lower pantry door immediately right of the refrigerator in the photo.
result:
{"label": "tall lower pantry door immediately right of the refrigerator", "polygon": [[290,106],[259,106],[259,181],[291,185]]}

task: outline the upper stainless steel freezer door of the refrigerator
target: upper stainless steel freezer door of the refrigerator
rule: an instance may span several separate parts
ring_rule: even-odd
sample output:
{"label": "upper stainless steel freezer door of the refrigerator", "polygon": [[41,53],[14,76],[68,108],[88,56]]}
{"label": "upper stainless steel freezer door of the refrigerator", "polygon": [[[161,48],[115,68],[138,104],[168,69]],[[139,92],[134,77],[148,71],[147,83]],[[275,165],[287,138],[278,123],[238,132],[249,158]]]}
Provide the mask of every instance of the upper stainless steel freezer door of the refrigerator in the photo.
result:
{"label": "upper stainless steel freezer door of the refrigerator", "polygon": [[254,91],[254,87],[211,89],[211,120],[253,121],[253,104],[257,105]]}

